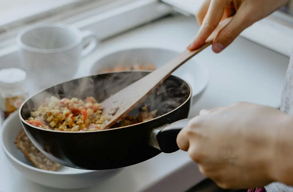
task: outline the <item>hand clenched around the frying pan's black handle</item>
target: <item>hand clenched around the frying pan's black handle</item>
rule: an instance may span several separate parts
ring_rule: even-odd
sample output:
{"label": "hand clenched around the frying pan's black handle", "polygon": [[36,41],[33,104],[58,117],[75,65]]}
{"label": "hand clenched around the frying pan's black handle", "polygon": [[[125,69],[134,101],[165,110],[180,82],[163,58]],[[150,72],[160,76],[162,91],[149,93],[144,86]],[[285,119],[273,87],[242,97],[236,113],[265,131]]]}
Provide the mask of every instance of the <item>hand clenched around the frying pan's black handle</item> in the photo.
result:
{"label": "hand clenched around the frying pan's black handle", "polygon": [[272,167],[280,169],[277,137],[291,122],[275,108],[241,102],[201,111],[180,131],[177,144],[220,187],[263,187],[275,180]]}

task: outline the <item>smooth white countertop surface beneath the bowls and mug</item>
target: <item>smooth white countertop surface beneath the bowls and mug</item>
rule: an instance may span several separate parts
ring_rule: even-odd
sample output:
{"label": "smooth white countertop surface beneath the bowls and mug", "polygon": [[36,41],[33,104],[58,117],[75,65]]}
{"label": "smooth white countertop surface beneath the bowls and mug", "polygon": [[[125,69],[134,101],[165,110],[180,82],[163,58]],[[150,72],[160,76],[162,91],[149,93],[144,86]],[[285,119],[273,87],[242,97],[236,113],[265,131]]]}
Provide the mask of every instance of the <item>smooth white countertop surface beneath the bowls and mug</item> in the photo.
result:
{"label": "smooth white countertop surface beneath the bowls and mug", "polygon": [[[84,60],[79,75],[87,74],[93,63],[103,54],[123,47],[166,47],[185,49],[198,26],[194,18],[176,16],[151,23],[119,35],[100,44],[94,56]],[[211,48],[195,57],[210,70],[210,84],[202,99],[195,104],[190,116],[200,109],[248,101],[277,106],[289,58],[239,37],[221,54]],[[34,184],[20,175],[0,148],[0,192],[65,192]],[[168,176],[168,177],[167,177]],[[160,154],[146,162],[127,167],[120,174],[90,189],[79,192],[179,192],[185,191],[203,176],[188,154],[178,151]],[[162,180],[163,179],[163,180]],[[157,184],[160,181],[160,184]],[[97,180],[98,183],[98,180]],[[156,185],[157,184],[157,185]]]}

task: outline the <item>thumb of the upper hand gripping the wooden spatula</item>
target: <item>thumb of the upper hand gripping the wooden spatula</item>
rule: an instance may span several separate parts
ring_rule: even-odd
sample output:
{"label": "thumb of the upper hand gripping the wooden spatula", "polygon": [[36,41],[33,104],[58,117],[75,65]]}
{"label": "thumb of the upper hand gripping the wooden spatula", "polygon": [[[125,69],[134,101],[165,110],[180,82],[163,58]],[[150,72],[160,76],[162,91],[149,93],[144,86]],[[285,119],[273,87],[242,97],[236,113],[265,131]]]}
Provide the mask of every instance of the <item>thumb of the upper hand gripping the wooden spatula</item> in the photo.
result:
{"label": "thumb of the upper hand gripping the wooden spatula", "polygon": [[228,47],[238,35],[251,26],[257,19],[251,6],[242,4],[232,20],[218,33],[215,38],[212,49],[215,53],[221,52]]}

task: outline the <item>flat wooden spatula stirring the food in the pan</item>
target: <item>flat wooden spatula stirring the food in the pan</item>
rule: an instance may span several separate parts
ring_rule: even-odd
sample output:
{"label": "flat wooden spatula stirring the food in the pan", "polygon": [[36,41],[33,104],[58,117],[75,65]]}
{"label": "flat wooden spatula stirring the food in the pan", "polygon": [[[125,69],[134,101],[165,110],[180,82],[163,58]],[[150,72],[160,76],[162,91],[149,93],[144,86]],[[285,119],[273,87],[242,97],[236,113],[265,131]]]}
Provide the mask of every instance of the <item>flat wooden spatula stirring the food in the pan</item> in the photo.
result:
{"label": "flat wooden spatula stirring the food in the pan", "polygon": [[226,26],[231,18],[223,20],[212,34],[207,38],[205,44],[194,51],[185,50],[180,55],[161,66],[147,76],[137,80],[126,88],[118,91],[102,102],[103,116],[106,120],[101,125],[101,129],[107,129],[115,124],[121,117],[130,112],[137,104],[146,98],[152,90],[156,89],[173,71],[191,59],[193,56],[212,44],[218,32]]}

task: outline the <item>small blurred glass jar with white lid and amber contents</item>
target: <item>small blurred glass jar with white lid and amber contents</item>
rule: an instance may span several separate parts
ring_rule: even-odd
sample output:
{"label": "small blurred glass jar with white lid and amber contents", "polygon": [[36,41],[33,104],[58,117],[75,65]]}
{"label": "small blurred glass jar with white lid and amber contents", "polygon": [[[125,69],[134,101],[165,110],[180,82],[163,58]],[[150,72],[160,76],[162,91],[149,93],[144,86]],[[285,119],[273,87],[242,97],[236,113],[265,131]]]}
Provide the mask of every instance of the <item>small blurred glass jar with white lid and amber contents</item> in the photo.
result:
{"label": "small blurred glass jar with white lid and amber contents", "polygon": [[28,97],[26,72],[19,68],[0,70],[0,109],[6,119],[16,111]]}

